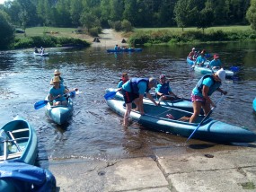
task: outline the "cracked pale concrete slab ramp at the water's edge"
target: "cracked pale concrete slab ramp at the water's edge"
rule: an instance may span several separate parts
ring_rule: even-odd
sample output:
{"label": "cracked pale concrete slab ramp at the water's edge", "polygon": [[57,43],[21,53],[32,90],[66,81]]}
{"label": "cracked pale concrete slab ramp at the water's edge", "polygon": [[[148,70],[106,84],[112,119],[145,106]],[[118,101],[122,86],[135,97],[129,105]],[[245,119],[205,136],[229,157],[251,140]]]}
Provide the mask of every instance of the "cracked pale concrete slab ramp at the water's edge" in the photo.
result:
{"label": "cracked pale concrete slab ramp at the water's edge", "polygon": [[[193,146],[189,146],[193,147]],[[256,145],[213,153],[156,150],[116,161],[49,161],[57,191],[256,191]]]}

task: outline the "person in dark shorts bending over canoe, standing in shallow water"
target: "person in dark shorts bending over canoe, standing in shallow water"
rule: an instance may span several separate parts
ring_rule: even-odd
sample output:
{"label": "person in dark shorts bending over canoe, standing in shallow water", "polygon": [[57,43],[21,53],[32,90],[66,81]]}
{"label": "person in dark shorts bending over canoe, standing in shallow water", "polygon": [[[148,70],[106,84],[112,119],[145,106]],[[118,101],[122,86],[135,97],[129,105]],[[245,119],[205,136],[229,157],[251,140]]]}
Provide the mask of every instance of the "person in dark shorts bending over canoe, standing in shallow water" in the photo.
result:
{"label": "person in dark shorts bending over canoe, standing in shallow water", "polygon": [[154,105],[158,106],[152,95],[149,93],[150,89],[156,87],[156,85],[157,81],[153,77],[131,78],[127,83],[124,83],[122,87],[119,88],[122,91],[127,108],[124,115],[124,127],[128,127],[128,117],[132,109],[132,102],[137,105],[137,111],[140,112],[141,115],[145,114],[143,108],[143,97],[145,93],[148,99],[154,102]]}

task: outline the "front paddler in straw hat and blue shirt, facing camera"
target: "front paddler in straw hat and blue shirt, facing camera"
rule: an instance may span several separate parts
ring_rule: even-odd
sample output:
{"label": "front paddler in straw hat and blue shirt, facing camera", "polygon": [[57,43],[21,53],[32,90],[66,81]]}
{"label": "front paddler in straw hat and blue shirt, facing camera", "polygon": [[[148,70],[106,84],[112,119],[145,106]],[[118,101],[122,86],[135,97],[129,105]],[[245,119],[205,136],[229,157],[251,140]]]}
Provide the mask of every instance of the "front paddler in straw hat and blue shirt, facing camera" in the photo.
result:
{"label": "front paddler in straw hat and blue shirt, facing camera", "polygon": [[66,105],[66,97],[63,95],[68,92],[64,85],[60,84],[60,79],[58,76],[53,77],[51,83],[53,86],[49,90],[49,100],[53,100],[53,105]]}

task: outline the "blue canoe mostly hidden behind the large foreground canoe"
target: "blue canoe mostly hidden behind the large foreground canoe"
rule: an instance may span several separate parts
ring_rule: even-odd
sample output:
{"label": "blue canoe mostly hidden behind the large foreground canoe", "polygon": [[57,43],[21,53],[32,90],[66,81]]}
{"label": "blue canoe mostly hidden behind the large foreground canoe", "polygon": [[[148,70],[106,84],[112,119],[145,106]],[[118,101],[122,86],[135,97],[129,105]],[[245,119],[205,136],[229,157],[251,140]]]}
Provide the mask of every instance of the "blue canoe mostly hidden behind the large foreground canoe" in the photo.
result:
{"label": "blue canoe mostly hidden behind the large foreground canoe", "polygon": [[[115,91],[116,89],[109,88],[109,89],[106,89],[105,92],[107,93],[107,92],[115,92]],[[159,102],[159,100],[155,98],[155,95],[153,95],[153,98],[157,103]],[[120,92],[117,92],[116,99],[123,100],[123,95]],[[144,98],[143,103],[153,104],[153,102],[148,98]],[[193,112],[193,103],[191,100],[188,100],[188,99],[180,98],[177,100],[161,100],[160,104],[164,107],[172,107],[177,109],[189,110]],[[203,114],[203,111],[202,111],[202,114]]]}

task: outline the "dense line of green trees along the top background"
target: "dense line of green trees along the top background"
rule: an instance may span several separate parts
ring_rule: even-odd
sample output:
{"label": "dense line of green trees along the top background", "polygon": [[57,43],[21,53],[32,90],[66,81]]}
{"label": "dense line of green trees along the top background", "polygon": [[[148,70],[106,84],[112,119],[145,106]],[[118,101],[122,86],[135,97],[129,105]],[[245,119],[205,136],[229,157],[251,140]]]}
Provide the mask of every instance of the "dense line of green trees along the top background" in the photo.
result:
{"label": "dense line of green trees along the top background", "polygon": [[16,26],[134,27],[248,24],[250,0],[13,0],[1,5]]}

